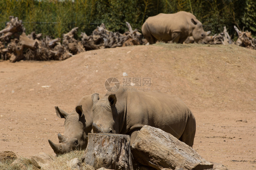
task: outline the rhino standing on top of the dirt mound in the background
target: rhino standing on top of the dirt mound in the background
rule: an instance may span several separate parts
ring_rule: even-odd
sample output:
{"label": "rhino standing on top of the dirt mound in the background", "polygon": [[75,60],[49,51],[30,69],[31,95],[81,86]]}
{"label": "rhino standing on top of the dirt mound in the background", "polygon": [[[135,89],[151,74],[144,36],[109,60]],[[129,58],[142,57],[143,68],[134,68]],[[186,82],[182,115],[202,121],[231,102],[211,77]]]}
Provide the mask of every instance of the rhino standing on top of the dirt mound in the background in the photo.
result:
{"label": "rhino standing on top of the dirt mound in the background", "polygon": [[143,23],[141,32],[149,44],[156,41],[172,41],[183,43],[188,36],[193,36],[197,43],[207,44],[210,41],[210,31],[204,31],[202,23],[195,15],[180,11],[174,14],[163,14],[148,17]]}

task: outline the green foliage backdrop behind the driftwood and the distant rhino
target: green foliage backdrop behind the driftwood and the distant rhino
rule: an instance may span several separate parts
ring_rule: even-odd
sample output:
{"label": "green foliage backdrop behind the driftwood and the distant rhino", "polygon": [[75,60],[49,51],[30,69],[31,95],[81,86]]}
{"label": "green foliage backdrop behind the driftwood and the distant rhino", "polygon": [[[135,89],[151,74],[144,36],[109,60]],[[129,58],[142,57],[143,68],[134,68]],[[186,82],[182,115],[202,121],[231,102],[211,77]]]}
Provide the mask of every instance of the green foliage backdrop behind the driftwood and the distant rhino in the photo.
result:
{"label": "green foliage backdrop behind the driftwood and the distant rhino", "polygon": [[[9,16],[23,21],[26,33],[35,31],[52,38],[61,37],[74,27],[91,34],[105,23],[110,31],[123,33],[125,22],[140,29],[146,18],[159,13],[193,12],[205,31],[220,33],[233,26],[256,33],[255,0],[0,0],[0,29]],[[78,35],[79,35],[78,33]]]}

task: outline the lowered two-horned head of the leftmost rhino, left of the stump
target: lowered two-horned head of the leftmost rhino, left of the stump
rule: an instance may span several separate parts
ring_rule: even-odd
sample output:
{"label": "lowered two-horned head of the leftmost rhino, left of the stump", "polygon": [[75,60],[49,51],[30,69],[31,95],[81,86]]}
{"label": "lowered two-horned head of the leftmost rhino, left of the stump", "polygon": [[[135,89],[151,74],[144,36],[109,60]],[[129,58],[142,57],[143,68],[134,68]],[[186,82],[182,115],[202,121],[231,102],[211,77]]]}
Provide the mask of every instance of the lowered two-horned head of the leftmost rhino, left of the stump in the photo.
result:
{"label": "lowered two-horned head of the leftmost rhino, left of the stump", "polygon": [[61,155],[71,150],[85,149],[88,143],[86,135],[91,131],[91,127],[86,126],[82,105],[78,105],[70,114],[57,106],[55,110],[59,118],[65,118],[65,131],[63,135],[58,134],[59,143],[54,144],[50,139],[48,140],[54,153]]}

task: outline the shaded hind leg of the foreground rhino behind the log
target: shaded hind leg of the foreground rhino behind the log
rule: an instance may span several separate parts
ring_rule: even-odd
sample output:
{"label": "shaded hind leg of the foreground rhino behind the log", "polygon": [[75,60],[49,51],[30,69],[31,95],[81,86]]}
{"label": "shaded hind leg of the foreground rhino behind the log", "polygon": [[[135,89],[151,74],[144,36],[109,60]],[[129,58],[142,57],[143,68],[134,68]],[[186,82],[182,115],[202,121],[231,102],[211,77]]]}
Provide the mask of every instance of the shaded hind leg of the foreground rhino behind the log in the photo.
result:
{"label": "shaded hind leg of the foreground rhino behind the log", "polygon": [[194,138],[196,134],[196,120],[191,111],[188,112],[188,121],[183,131],[181,137],[179,138],[180,141],[184,142],[188,146],[193,146]]}

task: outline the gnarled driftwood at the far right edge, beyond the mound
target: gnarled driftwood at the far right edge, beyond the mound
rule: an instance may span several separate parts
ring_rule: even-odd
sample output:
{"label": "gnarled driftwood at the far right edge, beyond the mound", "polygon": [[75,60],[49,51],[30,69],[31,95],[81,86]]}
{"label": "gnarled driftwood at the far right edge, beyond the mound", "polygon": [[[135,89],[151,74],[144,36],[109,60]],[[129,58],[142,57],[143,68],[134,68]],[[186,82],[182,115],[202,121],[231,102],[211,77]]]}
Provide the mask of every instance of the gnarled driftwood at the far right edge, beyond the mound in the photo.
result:
{"label": "gnarled driftwood at the far right edge, beyond the mound", "polygon": [[235,31],[238,34],[238,39],[235,44],[249,49],[256,49],[256,39],[252,38],[252,33],[249,31],[242,32],[234,25]]}

